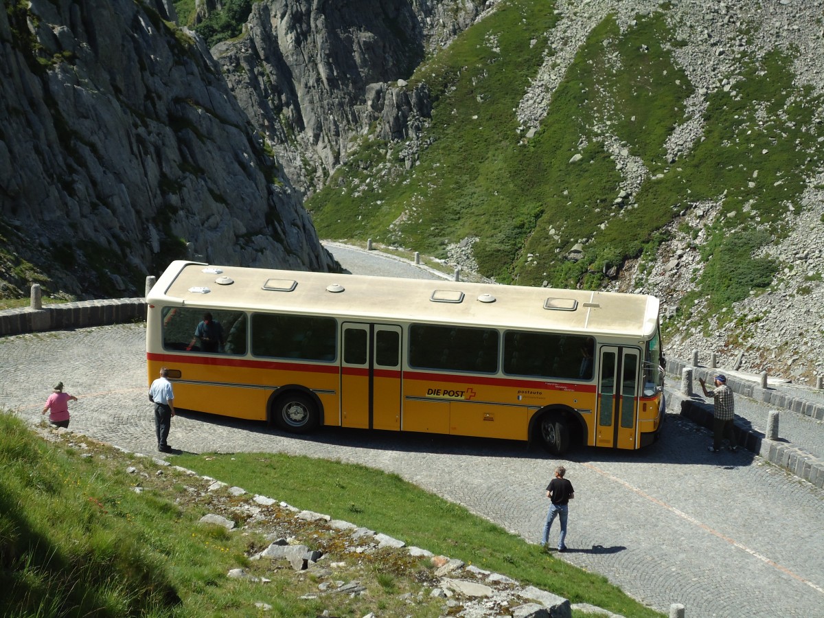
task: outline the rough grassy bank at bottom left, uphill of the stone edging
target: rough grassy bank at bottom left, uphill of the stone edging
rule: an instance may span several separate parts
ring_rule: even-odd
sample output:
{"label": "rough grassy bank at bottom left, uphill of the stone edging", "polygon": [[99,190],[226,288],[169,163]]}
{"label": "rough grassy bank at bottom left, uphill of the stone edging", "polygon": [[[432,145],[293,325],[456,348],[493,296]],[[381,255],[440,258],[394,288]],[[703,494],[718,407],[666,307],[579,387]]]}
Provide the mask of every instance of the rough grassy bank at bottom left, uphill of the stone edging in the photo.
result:
{"label": "rough grassy bank at bottom left, uphill of the stone edging", "polygon": [[[207,491],[213,480],[45,431],[49,442],[0,413],[2,616],[405,616],[404,595],[414,595],[415,616],[442,614],[442,600],[424,595],[421,582],[431,576],[419,559],[390,550],[353,555],[335,545],[338,535],[278,507],[259,508],[265,523],[255,527],[248,494]],[[199,523],[207,513],[246,526],[230,532]],[[324,576],[250,560],[271,535],[345,564]],[[250,578],[229,578],[231,569]],[[333,577],[366,592],[319,594],[321,580]]]}

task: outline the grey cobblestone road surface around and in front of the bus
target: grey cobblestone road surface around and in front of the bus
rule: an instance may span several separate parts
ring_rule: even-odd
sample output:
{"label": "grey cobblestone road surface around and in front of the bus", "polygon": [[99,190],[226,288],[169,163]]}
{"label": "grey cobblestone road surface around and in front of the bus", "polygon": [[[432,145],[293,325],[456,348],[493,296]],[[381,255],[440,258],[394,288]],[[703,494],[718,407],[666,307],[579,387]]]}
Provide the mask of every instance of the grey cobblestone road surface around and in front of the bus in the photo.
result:
{"label": "grey cobblestone road surface around and in front of the bus", "polygon": [[[72,428],[157,455],[144,337],[143,325],[118,325],[0,339],[0,407],[37,422],[63,381],[80,398]],[[662,439],[642,451],[586,448],[565,461],[516,442],[343,429],[301,438],[205,415],[173,419],[170,442],[186,452],[286,452],[396,472],[532,542],[545,485],[563,463],[576,489],[569,562],[665,613],[678,602],[688,617],[824,616],[824,492],[751,453],[713,455],[705,429],[668,417]]]}

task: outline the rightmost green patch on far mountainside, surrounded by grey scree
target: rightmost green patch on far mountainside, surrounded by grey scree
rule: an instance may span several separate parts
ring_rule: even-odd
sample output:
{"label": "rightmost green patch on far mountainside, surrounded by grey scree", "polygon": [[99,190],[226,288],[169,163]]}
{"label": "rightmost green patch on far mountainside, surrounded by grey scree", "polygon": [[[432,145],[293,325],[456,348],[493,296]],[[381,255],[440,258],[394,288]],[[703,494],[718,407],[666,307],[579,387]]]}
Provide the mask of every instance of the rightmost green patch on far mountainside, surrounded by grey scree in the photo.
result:
{"label": "rightmost green patch on far mountainside, surrounded by grey scree", "polygon": [[779,52],[745,63],[740,81],[709,96],[704,141],[639,194],[642,208],[720,204],[705,227],[697,290],[682,302],[677,320],[690,317],[700,297],[710,313],[731,307],[768,288],[780,268],[757,255],[787,232],[787,219],[800,212],[805,178],[822,165],[813,118],[822,99],[794,87],[791,66]]}

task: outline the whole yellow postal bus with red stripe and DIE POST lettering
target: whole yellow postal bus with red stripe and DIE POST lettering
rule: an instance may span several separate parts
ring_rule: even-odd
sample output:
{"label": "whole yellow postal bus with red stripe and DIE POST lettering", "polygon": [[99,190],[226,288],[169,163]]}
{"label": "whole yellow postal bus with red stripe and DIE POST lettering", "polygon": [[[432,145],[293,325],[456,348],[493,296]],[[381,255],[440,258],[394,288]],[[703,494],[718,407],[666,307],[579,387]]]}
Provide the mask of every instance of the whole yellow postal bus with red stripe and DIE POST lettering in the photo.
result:
{"label": "whole yellow postal bus with red stripe and DIE POST lettering", "polygon": [[148,380],[169,368],[187,410],[555,454],[643,447],[663,420],[651,296],[176,261],[147,302]]}

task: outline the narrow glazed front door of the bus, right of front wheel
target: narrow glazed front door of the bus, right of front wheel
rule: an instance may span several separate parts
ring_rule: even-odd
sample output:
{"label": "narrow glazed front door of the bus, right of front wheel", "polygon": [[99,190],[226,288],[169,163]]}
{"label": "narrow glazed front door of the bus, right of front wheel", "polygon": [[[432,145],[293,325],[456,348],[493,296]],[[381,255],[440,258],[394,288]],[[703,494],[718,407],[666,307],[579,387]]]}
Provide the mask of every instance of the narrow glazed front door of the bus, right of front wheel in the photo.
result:
{"label": "narrow glazed front door of the bus, right of front wheel", "polygon": [[638,349],[603,346],[595,445],[638,448]]}

